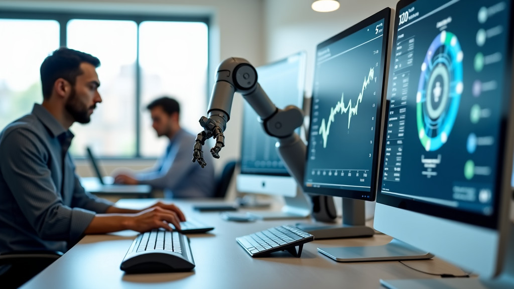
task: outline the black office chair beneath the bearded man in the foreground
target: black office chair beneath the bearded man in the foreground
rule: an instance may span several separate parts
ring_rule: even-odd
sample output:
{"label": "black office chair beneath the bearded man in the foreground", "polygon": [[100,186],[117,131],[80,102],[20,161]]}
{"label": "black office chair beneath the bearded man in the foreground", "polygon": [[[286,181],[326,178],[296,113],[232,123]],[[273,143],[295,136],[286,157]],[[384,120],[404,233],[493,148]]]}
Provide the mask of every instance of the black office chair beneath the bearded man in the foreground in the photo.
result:
{"label": "black office chair beneath the bearded man in the foreground", "polygon": [[17,288],[63,255],[60,251],[13,251],[0,254],[0,266],[9,268],[0,275],[0,287]]}

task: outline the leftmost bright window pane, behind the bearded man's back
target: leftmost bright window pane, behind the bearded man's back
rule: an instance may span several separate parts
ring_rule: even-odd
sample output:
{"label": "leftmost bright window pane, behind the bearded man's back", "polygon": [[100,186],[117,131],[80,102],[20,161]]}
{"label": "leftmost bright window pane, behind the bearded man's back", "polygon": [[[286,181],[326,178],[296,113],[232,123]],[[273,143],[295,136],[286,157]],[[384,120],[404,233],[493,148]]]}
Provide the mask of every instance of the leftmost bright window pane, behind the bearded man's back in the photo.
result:
{"label": "leftmost bright window pane, behind the bearded man's back", "polygon": [[39,67],[59,46],[59,30],[53,20],[0,19],[0,128],[43,100]]}

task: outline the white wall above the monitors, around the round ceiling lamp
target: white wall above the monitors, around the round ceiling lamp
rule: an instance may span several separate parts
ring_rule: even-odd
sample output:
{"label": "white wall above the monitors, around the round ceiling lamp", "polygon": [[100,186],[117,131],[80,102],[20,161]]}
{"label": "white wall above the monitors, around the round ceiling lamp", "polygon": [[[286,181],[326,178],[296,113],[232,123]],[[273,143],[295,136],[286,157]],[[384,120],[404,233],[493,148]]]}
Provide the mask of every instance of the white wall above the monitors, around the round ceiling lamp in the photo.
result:
{"label": "white wall above the monitors, around the round ceiling lamp", "polygon": [[305,94],[311,96],[316,46],[397,0],[339,0],[333,12],[315,12],[311,0],[264,0],[265,61],[281,59],[300,50],[307,52]]}

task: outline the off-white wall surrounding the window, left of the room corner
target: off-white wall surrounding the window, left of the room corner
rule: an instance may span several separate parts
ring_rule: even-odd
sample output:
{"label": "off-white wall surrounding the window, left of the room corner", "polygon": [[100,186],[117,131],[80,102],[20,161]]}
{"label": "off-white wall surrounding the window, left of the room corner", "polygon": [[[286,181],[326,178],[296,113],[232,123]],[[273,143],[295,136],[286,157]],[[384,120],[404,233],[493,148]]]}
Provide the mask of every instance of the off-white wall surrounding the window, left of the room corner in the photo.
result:
{"label": "off-white wall surrounding the window, left of the room corner", "polygon": [[[209,94],[217,65],[228,57],[242,57],[261,65],[264,61],[263,11],[261,0],[65,0],[65,1],[0,1],[2,9],[22,9],[36,11],[75,11],[98,13],[148,13],[159,15],[199,15],[211,17],[210,23],[210,78]],[[94,35],[94,31],[93,31]],[[101,45],[99,43],[98,45]],[[87,51],[86,51],[87,52]],[[106,62],[108,60],[102,60]],[[179,69],[179,67],[177,67]],[[206,99],[210,95],[206,95]],[[234,97],[231,118],[225,131],[226,146],[220,153],[221,159],[214,165],[221,170],[226,160],[238,158],[240,155],[241,111],[243,100]],[[207,112],[198,112],[198,119]],[[198,132],[201,130],[198,124]],[[192,153],[192,147],[191,147]],[[135,169],[152,163],[140,161],[130,162],[103,161],[105,171],[110,172],[115,166],[125,165]],[[78,172],[89,175],[91,172],[87,162],[78,162]]]}

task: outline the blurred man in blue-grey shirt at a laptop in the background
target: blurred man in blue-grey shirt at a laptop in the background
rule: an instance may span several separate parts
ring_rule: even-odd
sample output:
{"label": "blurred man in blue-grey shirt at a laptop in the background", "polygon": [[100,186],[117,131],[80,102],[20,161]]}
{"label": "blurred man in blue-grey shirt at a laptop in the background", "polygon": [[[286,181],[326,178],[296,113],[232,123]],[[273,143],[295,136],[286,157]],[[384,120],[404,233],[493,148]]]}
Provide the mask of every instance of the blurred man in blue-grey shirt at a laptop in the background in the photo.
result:
{"label": "blurred man in blue-grey shirt at a laptop in the background", "polygon": [[212,166],[202,169],[191,161],[196,135],[180,127],[178,102],[163,96],[146,108],[150,111],[152,127],[157,135],[169,138],[170,143],[152,169],[135,174],[120,173],[114,181],[120,184],[151,185],[162,189],[167,198],[212,197],[214,169]]}

